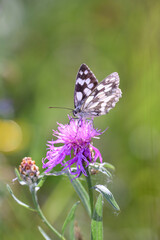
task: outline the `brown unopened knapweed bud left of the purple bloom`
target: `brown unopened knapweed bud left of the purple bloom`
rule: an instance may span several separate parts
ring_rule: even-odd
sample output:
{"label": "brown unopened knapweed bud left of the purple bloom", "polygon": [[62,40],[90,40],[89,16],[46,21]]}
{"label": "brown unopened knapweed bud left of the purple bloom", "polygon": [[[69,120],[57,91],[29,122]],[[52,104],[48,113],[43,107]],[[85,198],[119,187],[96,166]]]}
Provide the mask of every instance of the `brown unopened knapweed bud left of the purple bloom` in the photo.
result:
{"label": "brown unopened knapweed bud left of the purple bloom", "polygon": [[40,174],[39,168],[35,165],[35,161],[32,161],[31,157],[24,157],[22,159],[19,172],[23,181],[27,184],[36,183]]}

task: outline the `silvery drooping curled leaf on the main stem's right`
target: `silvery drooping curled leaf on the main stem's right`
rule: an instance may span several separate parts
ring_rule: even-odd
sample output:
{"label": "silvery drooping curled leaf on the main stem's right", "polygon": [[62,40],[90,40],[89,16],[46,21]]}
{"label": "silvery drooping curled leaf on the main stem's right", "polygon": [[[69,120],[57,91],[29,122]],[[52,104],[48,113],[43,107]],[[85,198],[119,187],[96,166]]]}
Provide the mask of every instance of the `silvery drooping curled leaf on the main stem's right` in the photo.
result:
{"label": "silvery drooping curled leaf on the main stem's right", "polygon": [[120,211],[113,194],[108,190],[108,188],[106,188],[104,185],[95,185],[93,188],[100,192],[116,211]]}

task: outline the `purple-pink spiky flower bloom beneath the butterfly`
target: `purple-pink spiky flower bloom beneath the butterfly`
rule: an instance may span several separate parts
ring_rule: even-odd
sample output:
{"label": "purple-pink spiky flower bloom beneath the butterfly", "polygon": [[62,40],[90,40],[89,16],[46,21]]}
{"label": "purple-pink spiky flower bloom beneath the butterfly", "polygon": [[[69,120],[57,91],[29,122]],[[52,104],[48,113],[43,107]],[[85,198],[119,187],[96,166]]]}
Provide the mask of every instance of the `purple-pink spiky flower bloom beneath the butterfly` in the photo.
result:
{"label": "purple-pink spiky flower bloom beneath the butterfly", "polygon": [[[68,168],[70,173],[76,177],[79,177],[81,173],[87,176],[85,167],[89,163],[96,162],[97,158],[102,162],[100,151],[91,143],[92,138],[101,134],[100,130],[95,129],[92,121],[89,120],[71,118],[69,124],[58,123],[58,130],[53,130],[53,136],[57,139],[48,141],[48,151],[43,159],[43,168],[47,168],[45,172],[61,164],[63,170]],[[66,156],[69,156],[70,160],[65,162]],[[76,167],[76,172],[73,172],[71,167]]]}

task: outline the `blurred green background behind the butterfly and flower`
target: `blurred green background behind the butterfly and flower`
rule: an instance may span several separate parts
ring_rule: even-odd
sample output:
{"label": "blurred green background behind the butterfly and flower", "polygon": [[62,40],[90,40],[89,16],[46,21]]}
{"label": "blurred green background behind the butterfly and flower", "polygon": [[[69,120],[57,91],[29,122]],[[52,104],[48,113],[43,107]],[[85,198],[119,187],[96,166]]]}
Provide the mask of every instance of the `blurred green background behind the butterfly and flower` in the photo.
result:
{"label": "blurred green background behind the butterfly and flower", "polygon": [[[32,204],[14,168],[31,156],[42,170],[46,142],[56,122],[67,123],[77,71],[86,63],[99,81],[120,75],[123,98],[95,119],[105,129],[94,145],[116,167],[113,192],[121,212],[104,202],[104,239],[160,239],[160,2],[0,1],[0,239],[43,239],[38,216],[7,193]],[[65,177],[50,178],[39,192],[42,210],[57,228],[78,197]],[[84,239],[89,219],[76,213]],[[50,232],[48,234],[57,239]]]}

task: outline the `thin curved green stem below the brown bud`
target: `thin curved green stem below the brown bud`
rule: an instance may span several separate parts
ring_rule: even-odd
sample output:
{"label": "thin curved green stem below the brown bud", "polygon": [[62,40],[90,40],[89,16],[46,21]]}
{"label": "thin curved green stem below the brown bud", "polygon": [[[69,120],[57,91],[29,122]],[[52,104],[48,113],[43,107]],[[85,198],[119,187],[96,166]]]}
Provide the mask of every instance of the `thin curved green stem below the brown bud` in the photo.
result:
{"label": "thin curved green stem below the brown bud", "polygon": [[36,194],[36,190],[35,188],[30,188],[31,194],[32,194],[32,199],[34,202],[34,206],[39,214],[39,216],[41,217],[41,219],[43,220],[43,222],[51,229],[52,232],[54,232],[60,239],[65,240],[65,238],[48,222],[48,220],[45,218],[45,216],[43,215],[40,206],[38,204],[38,198],[37,198],[37,194]]}

